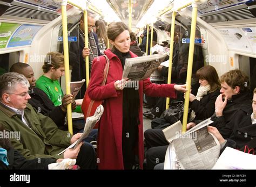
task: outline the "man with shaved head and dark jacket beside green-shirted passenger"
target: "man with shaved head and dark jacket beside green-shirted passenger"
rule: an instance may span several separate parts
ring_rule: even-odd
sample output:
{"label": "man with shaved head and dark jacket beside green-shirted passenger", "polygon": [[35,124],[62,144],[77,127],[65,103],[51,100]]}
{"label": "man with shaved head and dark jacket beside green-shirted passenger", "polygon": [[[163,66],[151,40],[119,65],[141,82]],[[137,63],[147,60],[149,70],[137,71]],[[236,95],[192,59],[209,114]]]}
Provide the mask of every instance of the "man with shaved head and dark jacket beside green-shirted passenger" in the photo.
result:
{"label": "man with shaved head and dark jacket beside green-shirted passenger", "polygon": [[[62,105],[55,106],[43,90],[35,88],[36,79],[34,77],[33,69],[29,66],[29,64],[17,62],[11,66],[10,71],[23,74],[29,81],[29,95],[31,97],[31,99],[29,99],[29,104],[31,104],[38,112],[44,114],[45,116],[49,116],[59,129],[68,131],[68,125],[65,124],[66,106],[72,102],[72,109],[75,109],[76,107],[76,102],[74,102],[75,100],[72,99],[72,95],[65,94],[62,98]],[[79,132],[83,128],[84,121],[81,122],[78,120],[73,120],[74,133]],[[97,134],[98,130],[92,130],[84,141],[97,141]]]}

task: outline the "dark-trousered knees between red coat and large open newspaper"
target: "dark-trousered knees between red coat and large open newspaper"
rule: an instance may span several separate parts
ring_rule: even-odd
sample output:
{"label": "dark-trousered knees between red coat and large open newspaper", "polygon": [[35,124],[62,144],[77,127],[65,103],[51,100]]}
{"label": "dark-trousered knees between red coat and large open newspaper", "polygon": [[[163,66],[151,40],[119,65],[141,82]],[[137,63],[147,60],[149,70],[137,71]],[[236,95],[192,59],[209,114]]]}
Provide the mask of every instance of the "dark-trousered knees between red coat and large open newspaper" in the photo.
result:
{"label": "dark-trousered knees between red coat and large open newspaper", "polygon": [[147,147],[146,169],[154,169],[159,163],[164,162],[165,153],[169,142],[165,139],[164,133],[161,129],[149,129],[144,132],[145,143]]}

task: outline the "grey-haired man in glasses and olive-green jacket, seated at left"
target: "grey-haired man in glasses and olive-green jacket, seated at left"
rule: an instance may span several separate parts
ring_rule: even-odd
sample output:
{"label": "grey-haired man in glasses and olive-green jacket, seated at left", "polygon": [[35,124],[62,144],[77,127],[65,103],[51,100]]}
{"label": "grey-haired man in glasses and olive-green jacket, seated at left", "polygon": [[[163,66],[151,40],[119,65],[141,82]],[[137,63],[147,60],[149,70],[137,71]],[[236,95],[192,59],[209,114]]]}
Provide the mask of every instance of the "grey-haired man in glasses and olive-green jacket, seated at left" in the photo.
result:
{"label": "grey-haired man in glasses and olive-green jacket, seated at left", "polygon": [[51,118],[28,104],[29,82],[23,75],[3,74],[0,85],[0,123],[8,131],[21,132],[21,139],[11,139],[11,143],[26,159],[70,158],[77,159],[81,169],[96,169],[95,150],[87,143],[57,155],[78,140],[82,133],[71,135],[59,130]]}

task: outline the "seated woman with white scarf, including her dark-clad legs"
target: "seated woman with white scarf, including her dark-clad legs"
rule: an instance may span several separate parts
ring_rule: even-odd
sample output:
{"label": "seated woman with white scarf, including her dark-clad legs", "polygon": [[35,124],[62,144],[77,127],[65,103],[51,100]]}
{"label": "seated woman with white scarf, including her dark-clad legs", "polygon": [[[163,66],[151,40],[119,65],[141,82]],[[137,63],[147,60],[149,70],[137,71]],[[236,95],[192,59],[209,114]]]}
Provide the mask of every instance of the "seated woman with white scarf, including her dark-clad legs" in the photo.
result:
{"label": "seated woman with white scarf, including her dark-clad legs", "polygon": [[[197,77],[199,78],[200,87],[197,96],[190,93],[190,107],[194,111],[192,112],[193,118],[207,119],[214,113],[214,103],[220,91],[219,77],[212,66],[200,68],[197,71]],[[158,158],[159,163],[164,162],[169,142],[159,128],[146,130],[144,136],[148,149],[146,153],[147,169],[153,169],[158,164],[156,158]]]}

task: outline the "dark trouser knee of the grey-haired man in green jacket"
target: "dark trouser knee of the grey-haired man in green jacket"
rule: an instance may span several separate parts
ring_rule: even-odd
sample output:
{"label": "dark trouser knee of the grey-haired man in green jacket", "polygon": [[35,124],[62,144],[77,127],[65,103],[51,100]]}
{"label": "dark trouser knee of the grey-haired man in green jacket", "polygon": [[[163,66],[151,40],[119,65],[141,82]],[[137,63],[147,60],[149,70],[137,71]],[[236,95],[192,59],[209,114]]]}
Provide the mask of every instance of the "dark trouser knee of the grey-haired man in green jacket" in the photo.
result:
{"label": "dark trouser knee of the grey-haired man in green jacket", "polygon": [[96,169],[96,154],[94,147],[87,142],[83,142],[77,156],[77,163],[81,169]]}

